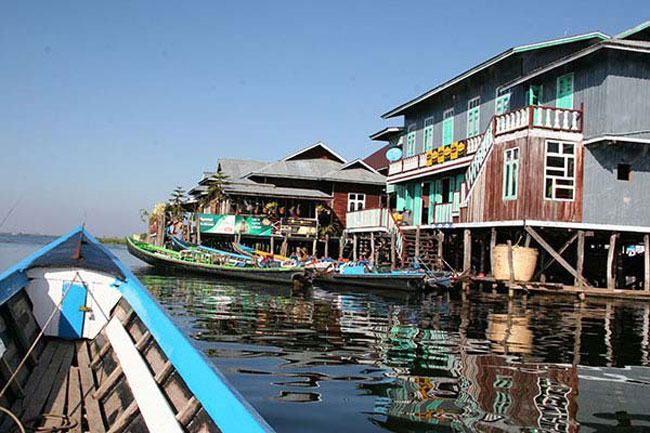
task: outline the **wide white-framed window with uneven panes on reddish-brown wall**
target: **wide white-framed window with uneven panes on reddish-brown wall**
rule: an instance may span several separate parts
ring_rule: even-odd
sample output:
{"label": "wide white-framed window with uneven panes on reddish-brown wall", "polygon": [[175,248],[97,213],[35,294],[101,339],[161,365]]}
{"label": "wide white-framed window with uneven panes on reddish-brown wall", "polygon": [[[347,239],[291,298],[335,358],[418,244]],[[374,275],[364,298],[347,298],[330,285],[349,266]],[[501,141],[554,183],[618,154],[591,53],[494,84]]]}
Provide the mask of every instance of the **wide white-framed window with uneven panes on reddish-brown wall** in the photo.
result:
{"label": "wide white-framed window with uneven panes on reddish-brown wall", "polygon": [[544,198],[571,201],[575,196],[576,145],[561,141],[546,142]]}

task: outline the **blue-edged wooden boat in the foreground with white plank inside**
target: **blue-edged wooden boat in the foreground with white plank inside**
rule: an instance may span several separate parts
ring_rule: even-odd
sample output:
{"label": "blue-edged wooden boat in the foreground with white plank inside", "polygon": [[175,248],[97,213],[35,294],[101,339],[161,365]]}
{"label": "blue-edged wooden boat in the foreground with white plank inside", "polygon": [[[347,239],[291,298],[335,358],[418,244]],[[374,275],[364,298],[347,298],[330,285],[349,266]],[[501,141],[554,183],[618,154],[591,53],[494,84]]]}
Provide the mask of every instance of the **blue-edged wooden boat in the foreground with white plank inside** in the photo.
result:
{"label": "blue-edged wooden boat in the foreground with white plank inside", "polygon": [[0,431],[271,432],[77,228],[0,274]]}

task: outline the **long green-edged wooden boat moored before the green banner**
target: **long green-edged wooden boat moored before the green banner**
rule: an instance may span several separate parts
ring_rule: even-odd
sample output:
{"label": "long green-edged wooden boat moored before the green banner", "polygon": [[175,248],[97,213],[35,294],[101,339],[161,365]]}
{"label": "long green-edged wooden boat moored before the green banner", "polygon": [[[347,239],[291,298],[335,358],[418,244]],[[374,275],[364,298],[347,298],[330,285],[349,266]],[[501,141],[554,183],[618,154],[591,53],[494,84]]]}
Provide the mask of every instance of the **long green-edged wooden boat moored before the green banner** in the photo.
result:
{"label": "long green-edged wooden boat moored before the green banner", "polygon": [[230,264],[201,263],[196,260],[183,260],[181,253],[156,247],[144,242],[127,238],[128,251],[138,259],[152,266],[186,271],[199,274],[218,275],[220,277],[241,280],[264,281],[269,283],[291,283],[306,285],[310,278],[305,270],[295,267],[258,268],[252,266],[234,266]]}

